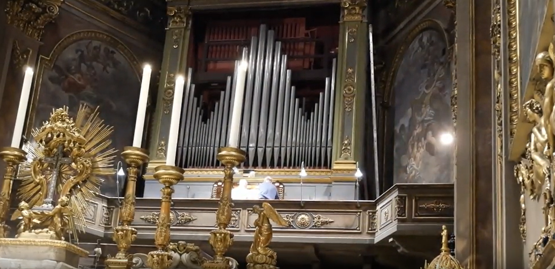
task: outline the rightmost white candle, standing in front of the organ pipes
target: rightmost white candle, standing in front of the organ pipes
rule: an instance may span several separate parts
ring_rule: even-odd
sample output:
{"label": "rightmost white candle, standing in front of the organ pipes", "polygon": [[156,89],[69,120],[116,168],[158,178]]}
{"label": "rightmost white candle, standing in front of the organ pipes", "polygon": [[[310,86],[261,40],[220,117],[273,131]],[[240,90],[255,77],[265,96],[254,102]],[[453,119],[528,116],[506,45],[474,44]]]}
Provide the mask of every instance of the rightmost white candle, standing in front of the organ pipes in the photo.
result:
{"label": "rightmost white candle, standing in front of the organ pipes", "polygon": [[237,83],[235,84],[235,99],[233,100],[233,112],[231,113],[231,123],[229,124],[229,143],[231,148],[239,147],[239,130],[241,128],[241,112],[243,111],[243,94],[245,93],[246,61],[239,64],[237,70]]}

